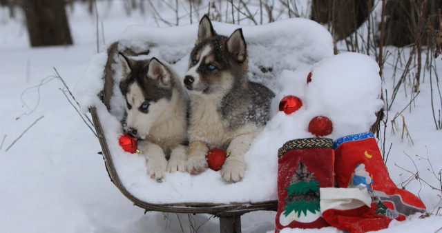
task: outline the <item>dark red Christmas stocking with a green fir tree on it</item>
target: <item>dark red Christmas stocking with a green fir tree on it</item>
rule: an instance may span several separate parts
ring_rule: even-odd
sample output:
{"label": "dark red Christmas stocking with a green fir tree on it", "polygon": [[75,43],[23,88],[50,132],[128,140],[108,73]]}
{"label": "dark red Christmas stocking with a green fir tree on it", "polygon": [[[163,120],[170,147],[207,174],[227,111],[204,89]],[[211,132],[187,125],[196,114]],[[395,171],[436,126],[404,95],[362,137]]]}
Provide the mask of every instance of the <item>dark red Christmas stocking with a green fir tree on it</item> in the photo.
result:
{"label": "dark red Christmas stocking with a green fir tree on it", "polygon": [[328,225],[320,214],[319,188],[334,184],[332,144],[332,139],[296,139],[278,151],[276,232]]}

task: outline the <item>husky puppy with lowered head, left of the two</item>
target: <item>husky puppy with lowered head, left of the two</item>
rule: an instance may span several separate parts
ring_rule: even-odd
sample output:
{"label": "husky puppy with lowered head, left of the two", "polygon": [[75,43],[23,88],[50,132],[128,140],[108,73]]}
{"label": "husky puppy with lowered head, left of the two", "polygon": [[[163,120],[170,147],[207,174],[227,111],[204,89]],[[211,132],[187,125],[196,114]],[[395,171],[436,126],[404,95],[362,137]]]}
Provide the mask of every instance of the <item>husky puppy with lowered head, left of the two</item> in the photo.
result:
{"label": "husky puppy with lowered head, left of the two", "polygon": [[119,88],[126,101],[124,130],[139,139],[148,173],[161,181],[166,171],[185,171],[189,99],[180,77],[155,58],[137,61],[119,54],[119,63],[124,77]]}

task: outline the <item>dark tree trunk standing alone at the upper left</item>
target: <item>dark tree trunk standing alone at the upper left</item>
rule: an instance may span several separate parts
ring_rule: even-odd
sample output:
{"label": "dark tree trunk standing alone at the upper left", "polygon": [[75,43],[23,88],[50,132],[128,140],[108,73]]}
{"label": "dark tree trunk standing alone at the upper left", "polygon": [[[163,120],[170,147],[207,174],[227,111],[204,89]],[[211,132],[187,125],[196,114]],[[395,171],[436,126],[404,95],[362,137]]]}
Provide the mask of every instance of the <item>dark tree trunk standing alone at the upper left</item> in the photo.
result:
{"label": "dark tree trunk standing alone at the upper left", "polygon": [[62,0],[23,0],[32,47],[73,44],[64,4]]}

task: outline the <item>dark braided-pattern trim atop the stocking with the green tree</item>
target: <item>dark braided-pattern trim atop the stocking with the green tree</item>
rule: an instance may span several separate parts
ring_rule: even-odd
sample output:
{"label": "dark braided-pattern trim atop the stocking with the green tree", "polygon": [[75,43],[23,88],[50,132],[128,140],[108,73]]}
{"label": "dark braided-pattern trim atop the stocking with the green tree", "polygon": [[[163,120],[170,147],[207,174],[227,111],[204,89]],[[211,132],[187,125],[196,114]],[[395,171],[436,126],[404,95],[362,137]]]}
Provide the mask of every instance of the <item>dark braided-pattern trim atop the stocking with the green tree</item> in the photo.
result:
{"label": "dark braided-pattern trim atop the stocking with the green tree", "polygon": [[308,139],[295,139],[287,141],[282,145],[282,148],[278,150],[278,158],[280,158],[285,152],[289,150],[307,149],[307,148],[333,148],[333,140],[326,138],[308,138]]}

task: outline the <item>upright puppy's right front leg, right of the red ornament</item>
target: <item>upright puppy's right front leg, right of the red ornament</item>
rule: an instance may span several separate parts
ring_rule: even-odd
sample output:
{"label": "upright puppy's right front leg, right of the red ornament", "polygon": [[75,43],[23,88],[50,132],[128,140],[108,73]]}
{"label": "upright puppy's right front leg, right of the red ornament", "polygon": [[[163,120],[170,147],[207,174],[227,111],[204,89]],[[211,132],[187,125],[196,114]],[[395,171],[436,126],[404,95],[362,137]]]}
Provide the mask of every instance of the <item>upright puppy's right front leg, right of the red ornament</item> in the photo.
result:
{"label": "upright puppy's right front leg, right of the red ornament", "polygon": [[227,152],[231,152],[221,168],[221,176],[224,181],[238,182],[244,176],[246,165],[244,154],[249,150],[250,144],[256,134],[242,134],[230,142]]}

